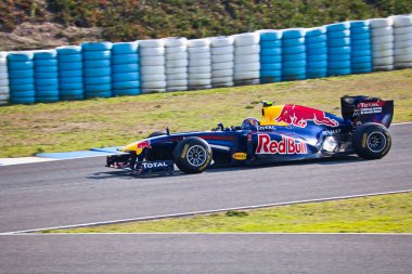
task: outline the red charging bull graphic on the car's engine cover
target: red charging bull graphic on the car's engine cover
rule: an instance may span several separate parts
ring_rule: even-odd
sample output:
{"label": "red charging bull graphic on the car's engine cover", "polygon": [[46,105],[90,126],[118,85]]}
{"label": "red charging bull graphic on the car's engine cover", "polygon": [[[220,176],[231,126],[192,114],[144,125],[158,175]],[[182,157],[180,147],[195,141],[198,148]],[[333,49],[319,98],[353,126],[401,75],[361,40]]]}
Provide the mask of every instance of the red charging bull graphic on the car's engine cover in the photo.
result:
{"label": "red charging bull graphic on the car's engine cover", "polygon": [[298,105],[284,105],[281,114],[274,119],[276,122],[286,122],[299,128],[306,128],[307,121],[313,121],[316,125],[337,127],[339,123],[325,116],[324,112]]}

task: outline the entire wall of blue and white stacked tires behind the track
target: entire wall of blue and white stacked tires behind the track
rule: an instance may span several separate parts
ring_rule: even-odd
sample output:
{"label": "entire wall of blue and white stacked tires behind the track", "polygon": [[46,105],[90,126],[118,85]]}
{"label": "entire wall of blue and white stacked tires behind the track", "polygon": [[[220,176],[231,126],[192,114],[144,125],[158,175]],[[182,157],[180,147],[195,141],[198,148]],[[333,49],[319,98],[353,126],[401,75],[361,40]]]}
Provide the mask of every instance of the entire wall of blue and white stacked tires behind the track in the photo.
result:
{"label": "entire wall of blue and white stacked tires behind the track", "polygon": [[0,105],[412,68],[412,14],[188,40],[0,52]]}

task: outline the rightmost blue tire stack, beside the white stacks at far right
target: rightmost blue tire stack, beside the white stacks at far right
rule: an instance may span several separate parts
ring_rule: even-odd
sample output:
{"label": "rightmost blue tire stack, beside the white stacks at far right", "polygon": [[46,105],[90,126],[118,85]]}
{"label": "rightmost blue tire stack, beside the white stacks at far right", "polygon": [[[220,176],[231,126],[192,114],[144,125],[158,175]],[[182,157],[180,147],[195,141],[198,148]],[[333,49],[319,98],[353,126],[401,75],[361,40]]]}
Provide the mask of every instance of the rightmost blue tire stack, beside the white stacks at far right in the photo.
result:
{"label": "rightmost blue tire stack, beside the white stacks at far right", "polygon": [[370,23],[368,21],[350,22],[350,64],[352,74],[372,71],[372,48]]}

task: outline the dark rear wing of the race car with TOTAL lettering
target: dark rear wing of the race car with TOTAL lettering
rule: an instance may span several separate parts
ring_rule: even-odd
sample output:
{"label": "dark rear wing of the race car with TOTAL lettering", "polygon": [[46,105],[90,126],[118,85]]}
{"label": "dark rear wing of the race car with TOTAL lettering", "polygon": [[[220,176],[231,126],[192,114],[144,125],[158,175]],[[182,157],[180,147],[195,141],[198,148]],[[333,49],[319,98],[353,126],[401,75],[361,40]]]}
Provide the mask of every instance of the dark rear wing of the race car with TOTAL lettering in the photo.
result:
{"label": "dark rear wing of the race car with TOTAL lettering", "polygon": [[344,96],[340,99],[342,116],[358,127],[365,122],[377,122],[389,128],[394,117],[394,101],[370,96]]}

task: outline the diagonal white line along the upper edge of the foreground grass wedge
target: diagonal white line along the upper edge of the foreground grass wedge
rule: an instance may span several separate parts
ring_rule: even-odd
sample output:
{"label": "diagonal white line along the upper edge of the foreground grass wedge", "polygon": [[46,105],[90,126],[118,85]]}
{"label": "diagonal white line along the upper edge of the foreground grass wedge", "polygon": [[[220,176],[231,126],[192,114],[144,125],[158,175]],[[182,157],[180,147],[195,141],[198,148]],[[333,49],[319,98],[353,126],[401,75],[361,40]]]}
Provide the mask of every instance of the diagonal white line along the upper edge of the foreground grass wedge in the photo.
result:
{"label": "diagonal white line along the upper edge of the foreground grass wedge", "polygon": [[0,233],[0,235],[34,233],[34,232],[42,232],[42,231],[49,231],[49,230],[69,230],[69,229],[79,229],[79,227],[98,226],[98,225],[106,225],[106,224],[118,224],[118,223],[127,223],[127,222],[153,221],[153,220],[160,220],[160,219],[167,219],[167,218],[181,218],[181,217],[191,217],[191,216],[196,216],[196,214],[209,214],[209,213],[224,212],[224,211],[229,211],[229,210],[250,210],[250,209],[258,209],[258,208],[280,207],[280,206],[320,203],[320,201],[331,201],[331,200],[342,200],[342,199],[361,198],[361,197],[378,196],[378,195],[386,195],[386,194],[409,193],[409,192],[412,192],[412,190],[404,190],[404,191],[397,191],[397,192],[381,192],[381,193],[359,194],[359,195],[350,195],[350,196],[338,196],[338,197],[321,198],[321,199],[296,200],[296,201],[287,201],[287,203],[275,203],[275,204],[235,207],[235,208],[224,208],[224,209],[214,209],[214,210],[204,210],[204,211],[192,211],[192,212],[176,213],[176,214],[130,218],[130,219],[120,219],[120,220],[113,220],[113,221],[105,221],[105,222],[91,222],[91,223],[82,223],[82,224],[74,224],[74,225],[63,225],[63,226],[43,227],[43,229],[35,229],[35,230],[5,232],[5,233]]}

